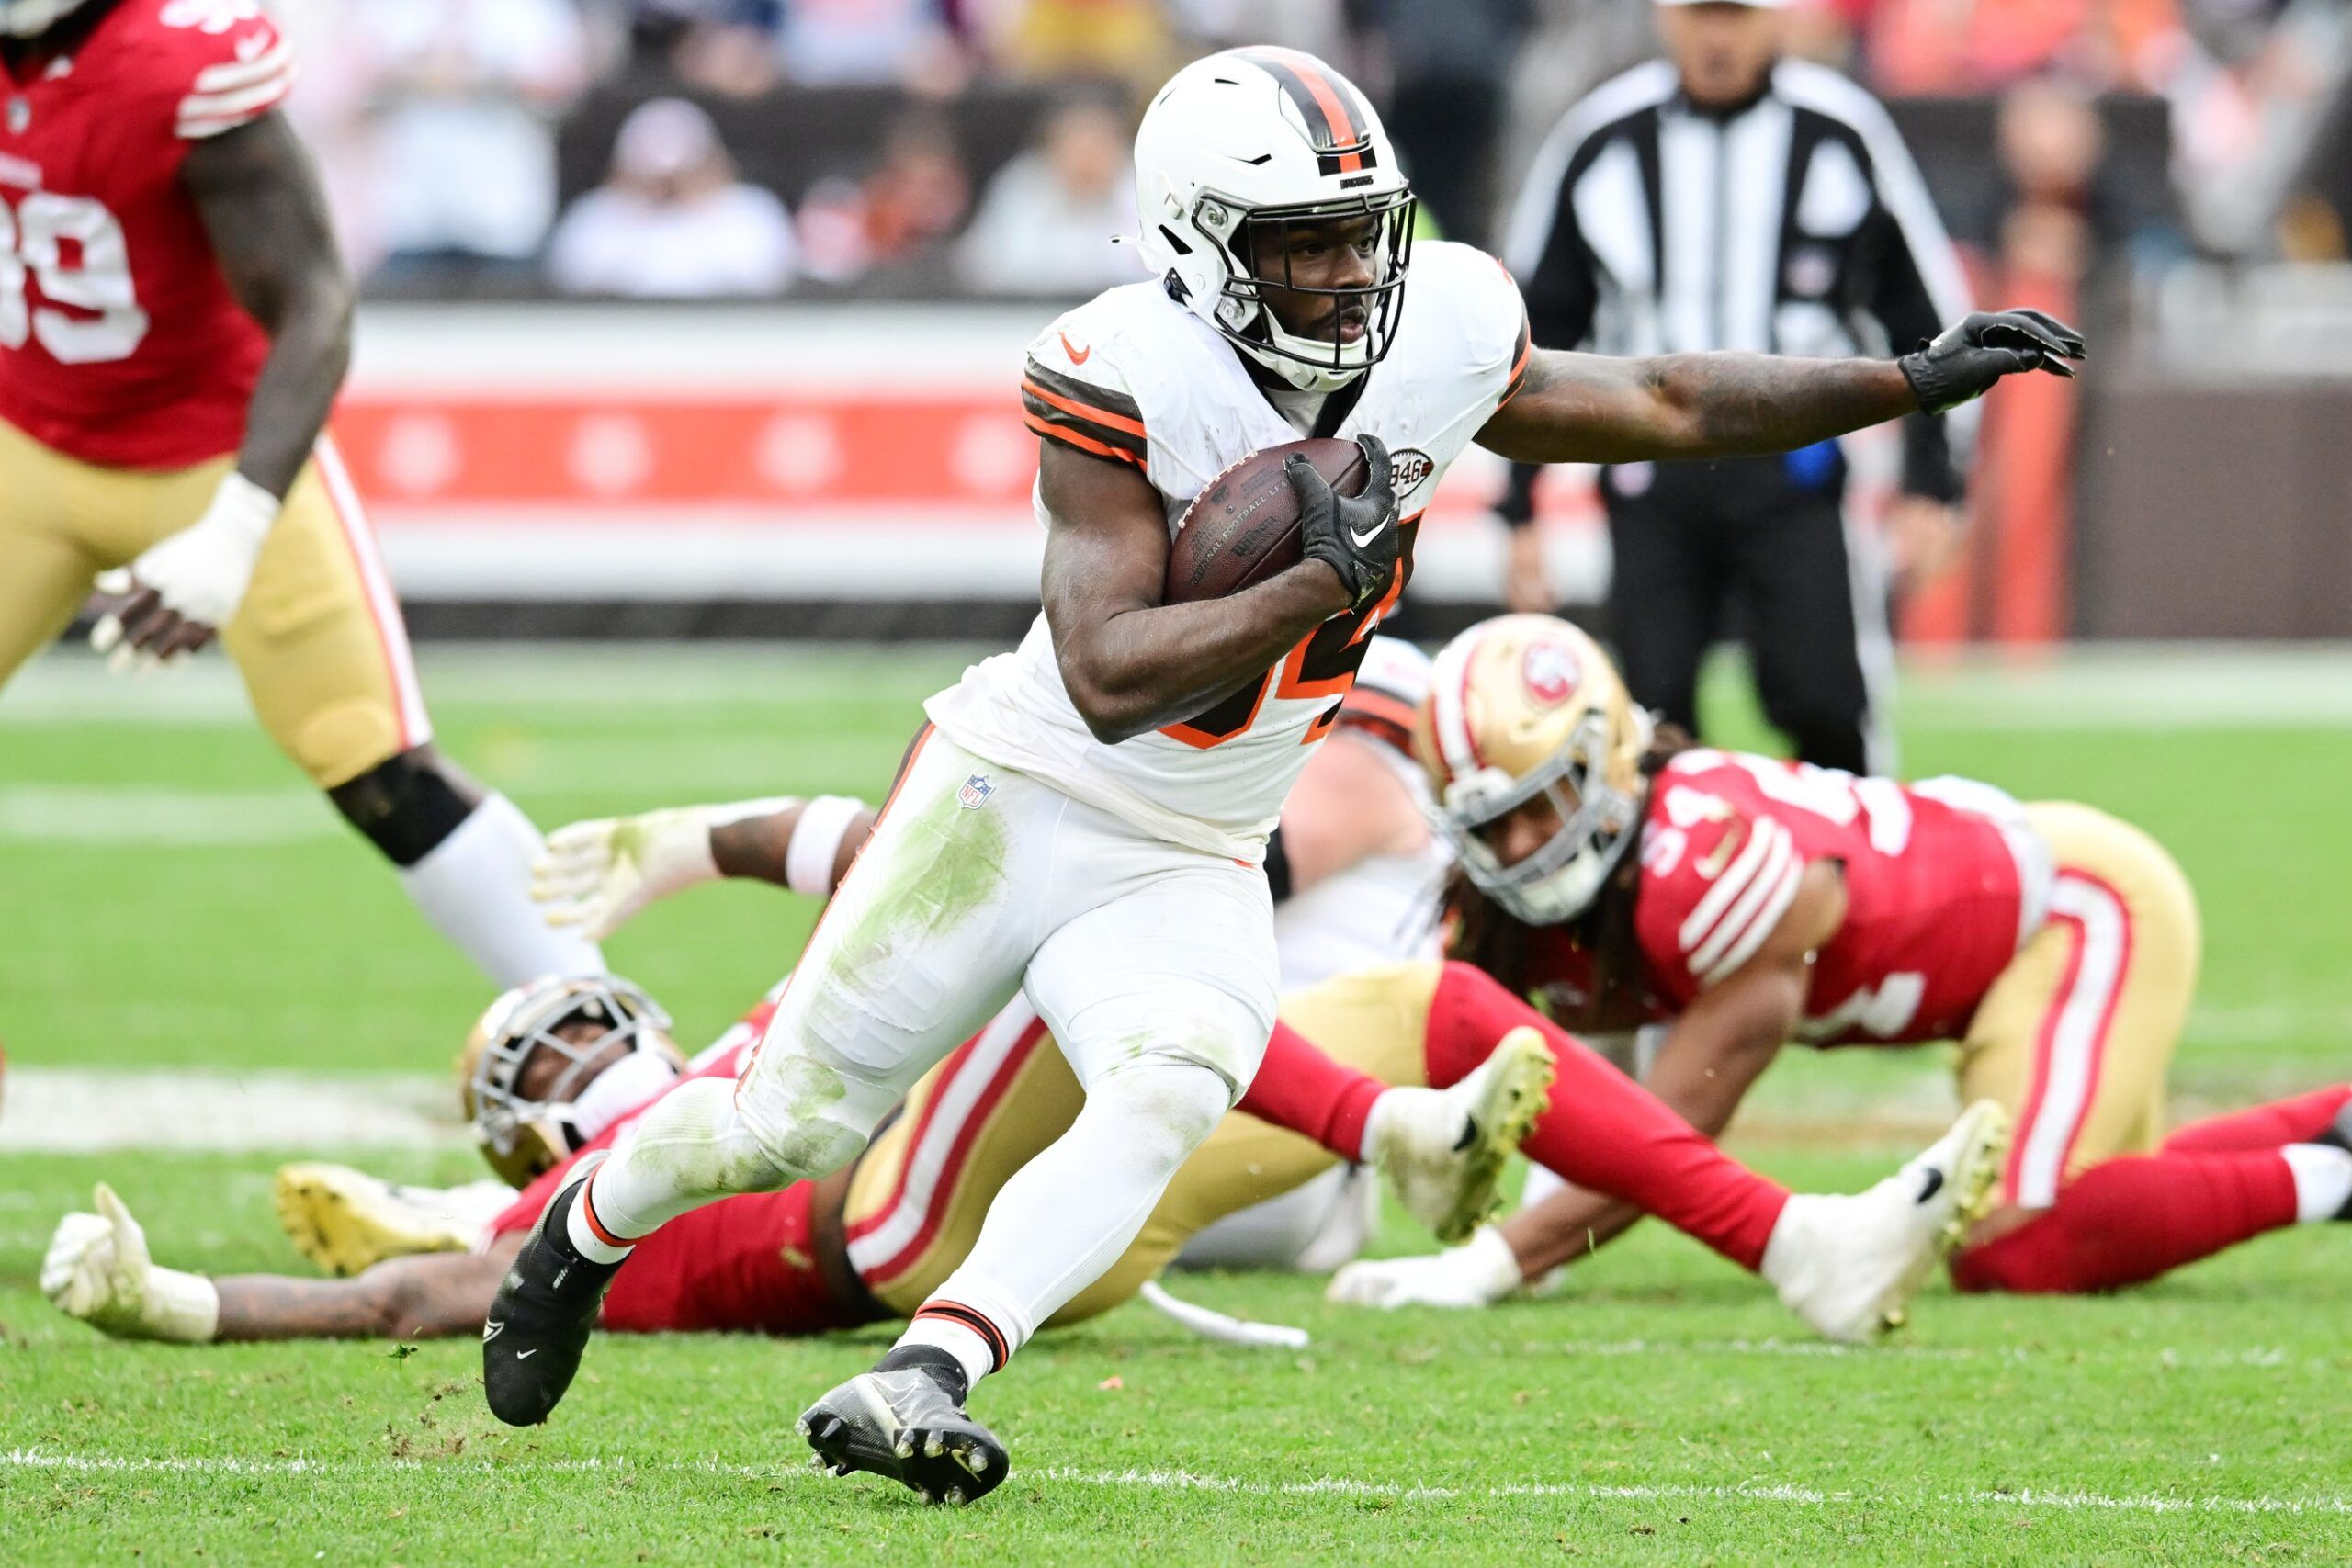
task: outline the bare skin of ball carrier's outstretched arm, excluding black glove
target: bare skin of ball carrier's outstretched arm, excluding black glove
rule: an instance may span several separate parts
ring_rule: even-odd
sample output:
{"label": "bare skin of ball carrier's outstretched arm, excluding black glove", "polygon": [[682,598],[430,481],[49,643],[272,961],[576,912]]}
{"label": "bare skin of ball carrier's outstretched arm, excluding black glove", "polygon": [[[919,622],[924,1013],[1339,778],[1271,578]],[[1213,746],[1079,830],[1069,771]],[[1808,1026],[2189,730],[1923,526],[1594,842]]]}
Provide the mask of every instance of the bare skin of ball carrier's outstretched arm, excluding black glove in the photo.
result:
{"label": "bare skin of ball carrier's outstretched arm, excluding black glove", "polygon": [[1792,451],[1919,411],[1893,360],[1538,350],[1477,442],[1519,463],[1635,463]]}

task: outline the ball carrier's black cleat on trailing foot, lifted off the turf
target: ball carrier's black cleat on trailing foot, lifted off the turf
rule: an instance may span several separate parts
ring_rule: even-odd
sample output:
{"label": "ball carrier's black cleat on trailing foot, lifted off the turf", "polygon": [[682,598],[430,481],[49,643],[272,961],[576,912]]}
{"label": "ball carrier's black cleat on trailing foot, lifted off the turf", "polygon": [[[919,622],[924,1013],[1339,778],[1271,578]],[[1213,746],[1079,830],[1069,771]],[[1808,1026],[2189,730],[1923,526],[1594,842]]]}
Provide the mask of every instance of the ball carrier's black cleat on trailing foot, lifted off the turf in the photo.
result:
{"label": "ball carrier's black cleat on trailing foot, lifted off the turf", "polygon": [[564,1220],[604,1154],[581,1159],[499,1281],[482,1319],[482,1394],[508,1427],[536,1427],[562,1401],[581,1368],[604,1288],[619,1262],[590,1262],[572,1246]]}

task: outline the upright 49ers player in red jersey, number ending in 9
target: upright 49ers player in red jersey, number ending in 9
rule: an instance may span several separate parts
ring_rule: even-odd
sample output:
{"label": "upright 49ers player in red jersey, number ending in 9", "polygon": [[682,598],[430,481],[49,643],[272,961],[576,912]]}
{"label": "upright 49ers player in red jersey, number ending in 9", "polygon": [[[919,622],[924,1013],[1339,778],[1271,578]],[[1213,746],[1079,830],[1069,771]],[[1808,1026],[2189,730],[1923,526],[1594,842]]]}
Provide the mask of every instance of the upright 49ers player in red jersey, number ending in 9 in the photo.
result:
{"label": "upright 49ers player in red jersey, number ending in 9", "polygon": [[0,0],[0,682],[89,599],[118,665],[216,635],[270,738],[501,985],[602,969],[539,832],[433,748],[320,430],[350,280],[256,0]]}

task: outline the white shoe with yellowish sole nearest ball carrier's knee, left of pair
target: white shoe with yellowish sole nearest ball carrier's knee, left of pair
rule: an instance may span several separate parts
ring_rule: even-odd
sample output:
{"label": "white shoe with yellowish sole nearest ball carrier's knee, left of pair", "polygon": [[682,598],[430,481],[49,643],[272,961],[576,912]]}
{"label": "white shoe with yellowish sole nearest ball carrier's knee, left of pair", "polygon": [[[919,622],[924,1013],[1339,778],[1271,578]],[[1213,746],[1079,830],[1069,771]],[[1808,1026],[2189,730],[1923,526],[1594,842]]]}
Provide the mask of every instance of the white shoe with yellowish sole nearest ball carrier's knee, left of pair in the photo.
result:
{"label": "white shoe with yellowish sole nearest ball carrier's knee, left of pair", "polygon": [[1454,1246],[1503,1208],[1503,1166],[1543,1114],[1552,1046],[1519,1025],[1454,1088],[1390,1088],[1371,1110],[1367,1154],[1397,1201]]}

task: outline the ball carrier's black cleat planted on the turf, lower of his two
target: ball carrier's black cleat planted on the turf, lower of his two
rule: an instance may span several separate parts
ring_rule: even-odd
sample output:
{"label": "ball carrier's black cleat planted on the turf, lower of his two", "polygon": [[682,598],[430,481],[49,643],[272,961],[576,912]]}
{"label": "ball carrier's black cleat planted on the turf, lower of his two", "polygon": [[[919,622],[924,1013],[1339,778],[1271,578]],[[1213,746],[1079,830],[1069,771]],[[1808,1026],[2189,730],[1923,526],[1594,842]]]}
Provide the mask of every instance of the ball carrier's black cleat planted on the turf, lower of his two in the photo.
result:
{"label": "ball carrier's black cleat planted on the turf, lower of his two", "polygon": [[1004,1443],[964,1415],[964,1368],[943,1352],[894,1349],[802,1410],[800,1434],[826,1474],[889,1476],[924,1502],[976,1502],[1007,1472]]}

